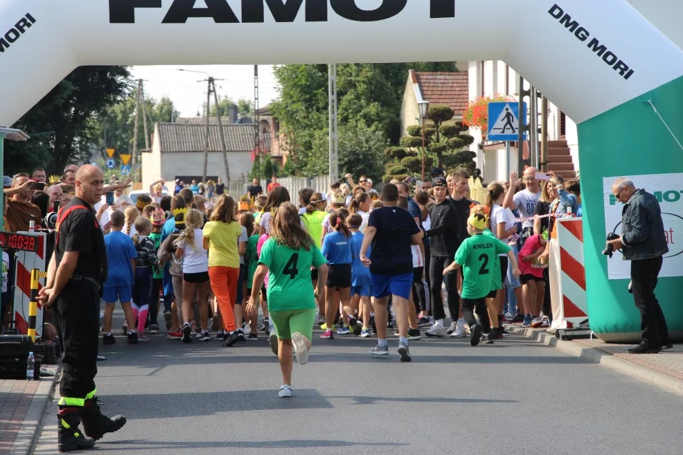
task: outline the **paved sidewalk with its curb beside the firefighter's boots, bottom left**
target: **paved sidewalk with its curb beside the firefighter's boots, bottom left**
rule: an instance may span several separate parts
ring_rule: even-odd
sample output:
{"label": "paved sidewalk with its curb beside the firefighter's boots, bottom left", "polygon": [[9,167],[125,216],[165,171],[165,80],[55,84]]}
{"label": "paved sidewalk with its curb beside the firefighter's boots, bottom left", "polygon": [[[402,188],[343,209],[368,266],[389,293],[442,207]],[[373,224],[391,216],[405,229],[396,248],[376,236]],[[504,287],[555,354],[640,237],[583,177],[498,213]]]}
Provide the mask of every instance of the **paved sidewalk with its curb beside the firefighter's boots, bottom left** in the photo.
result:
{"label": "paved sidewalk with its curb beside the firefighter's boots, bottom left", "polygon": [[35,445],[59,376],[59,366],[43,368],[54,376],[39,381],[0,380],[0,455],[25,455]]}

